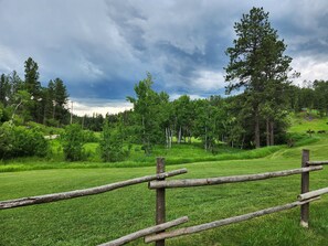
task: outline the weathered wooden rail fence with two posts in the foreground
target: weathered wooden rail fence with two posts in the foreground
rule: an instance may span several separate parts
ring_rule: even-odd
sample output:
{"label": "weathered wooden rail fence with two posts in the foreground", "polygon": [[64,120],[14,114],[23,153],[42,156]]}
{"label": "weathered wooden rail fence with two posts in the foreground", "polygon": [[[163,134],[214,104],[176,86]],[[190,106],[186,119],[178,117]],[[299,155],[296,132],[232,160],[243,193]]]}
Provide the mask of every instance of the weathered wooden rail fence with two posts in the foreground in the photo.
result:
{"label": "weathered wooden rail fence with two posts in the foreground", "polygon": [[[163,246],[167,238],[177,236],[194,234],[207,229],[260,217],[266,214],[272,214],[285,210],[289,210],[296,206],[300,206],[300,225],[308,227],[309,222],[309,203],[320,199],[320,195],[328,193],[328,188],[324,188],[316,191],[309,191],[309,173],[313,171],[322,170],[322,165],[328,164],[328,161],[309,161],[309,150],[303,150],[301,154],[301,168],[293,170],[284,170],[276,172],[265,172],[248,175],[234,175],[234,177],[220,177],[210,179],[186,179],[186,180],[166,180],[166,178],[187,173],[187,169],[179,169],[170,172],[165,171],[163,158],[157,158],[157,173],[154,175],[146,175],[131,180],[126,180],[117,183],[106,184],[102,186],[70,191],[55,194],[46,194],[40,196],[23,197],[18,200],[2,201],[0,202],[0,210],[13,208],[18,206],[34,205],[41,203],[56,202],[60,200],[74,199],[85,195],[94,195],[108,191],[113,191],[119,188],[134,185],[142,182],[148,182],[149,189],[156,189],[156,225],[140,229],[133,234],[123,236],[115,240],[102,244],[100,246],[117,246],[124,245],[137,238],[144,237],[145,243],[156,242],[156,246]],[[258,181],[278,177],[287,177],[300,174],[300,194],[298,201],[274,206],[261,211],[256,211],[248,214],[243,214],[234,217],[219,220],[205,224],[194,225],[190,227],[179,228],[174,231],[166,232],[166,229],[180,225],[188,222],[187,216],[182,216],[174,221],[166,222],[166,189],[178,189],[178,188],[192,188],[192,186],[204,186],[204,185],[219,185],[225,183]]]}

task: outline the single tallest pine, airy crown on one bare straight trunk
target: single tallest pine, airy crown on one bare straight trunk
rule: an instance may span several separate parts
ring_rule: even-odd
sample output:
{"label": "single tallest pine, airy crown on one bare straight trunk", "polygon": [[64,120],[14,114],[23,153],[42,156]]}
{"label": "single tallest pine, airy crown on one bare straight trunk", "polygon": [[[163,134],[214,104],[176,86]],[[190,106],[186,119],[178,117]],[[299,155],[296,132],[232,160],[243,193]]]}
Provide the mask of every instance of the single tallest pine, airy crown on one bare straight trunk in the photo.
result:
{"label": "single tallest pine, airy crown on one bare straight trunk", "polygon": [[[287,83],[292,58],[284,55],[286,45],[271,26],[268,13],[263,8],[253,8],[234,24],[237,39],[226,50],[230,62],[225,67],[226,92],[244,88],[248,107],[252,108],[255,147],[261,146],[261,106],[268,88],[279,90]],[[274,95],[271,95],[275,98]]]}

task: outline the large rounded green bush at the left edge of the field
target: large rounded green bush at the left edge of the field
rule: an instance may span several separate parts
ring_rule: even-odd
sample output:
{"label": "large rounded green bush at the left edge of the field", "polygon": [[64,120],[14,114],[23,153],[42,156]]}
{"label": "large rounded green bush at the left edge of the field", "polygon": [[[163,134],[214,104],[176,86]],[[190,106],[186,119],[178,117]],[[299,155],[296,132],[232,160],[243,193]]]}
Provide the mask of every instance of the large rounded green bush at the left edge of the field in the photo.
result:
{"label": "large rounded green bush at the left edge of the field", "polygon": [[38,128],[12,126],[9,122],[0,127],[0,158],[45,157],[47,141]]}

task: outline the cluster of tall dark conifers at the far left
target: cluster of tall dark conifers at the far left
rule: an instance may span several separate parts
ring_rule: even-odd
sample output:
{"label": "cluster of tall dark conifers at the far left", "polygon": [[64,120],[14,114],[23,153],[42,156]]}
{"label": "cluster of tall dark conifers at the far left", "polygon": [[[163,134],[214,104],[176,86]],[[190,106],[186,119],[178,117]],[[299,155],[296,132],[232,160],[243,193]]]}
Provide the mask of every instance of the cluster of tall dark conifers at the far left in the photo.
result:
{"label": "cluster of tall dark conifers at the far left", "polygon": [[51,79],[46,87],[39,81],[39,66],[31,57],[24,63],[24,78],[15,71],[0,76],[0,122],[18,125],[35,121],[46,126],[70,122],[66,108],[68,94],[61,78]]}

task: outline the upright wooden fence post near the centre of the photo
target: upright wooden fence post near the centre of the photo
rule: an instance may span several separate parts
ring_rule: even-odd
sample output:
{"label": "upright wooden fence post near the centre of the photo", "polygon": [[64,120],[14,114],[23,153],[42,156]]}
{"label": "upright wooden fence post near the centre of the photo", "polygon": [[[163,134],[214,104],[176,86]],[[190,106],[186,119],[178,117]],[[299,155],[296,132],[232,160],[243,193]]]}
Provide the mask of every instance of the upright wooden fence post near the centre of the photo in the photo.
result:
{"label": "upright wooden fence post near the centre of the photo", "polygon": [[[166,171],[166,164],[163,158],[157,158],[156,173],[162,173]],[[165,180],[158,179],[158,180]],[[156,224],[162,224],[166,222],[166,189],[160,188],[156,190]],[[161,233],[161,232],[160,232]],[[165,246],[165,239],[157,240],[156,246]]]}

